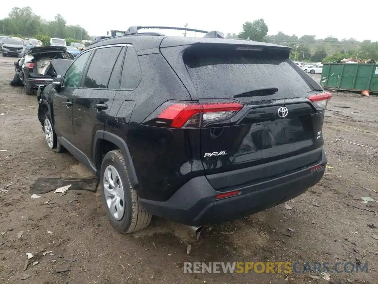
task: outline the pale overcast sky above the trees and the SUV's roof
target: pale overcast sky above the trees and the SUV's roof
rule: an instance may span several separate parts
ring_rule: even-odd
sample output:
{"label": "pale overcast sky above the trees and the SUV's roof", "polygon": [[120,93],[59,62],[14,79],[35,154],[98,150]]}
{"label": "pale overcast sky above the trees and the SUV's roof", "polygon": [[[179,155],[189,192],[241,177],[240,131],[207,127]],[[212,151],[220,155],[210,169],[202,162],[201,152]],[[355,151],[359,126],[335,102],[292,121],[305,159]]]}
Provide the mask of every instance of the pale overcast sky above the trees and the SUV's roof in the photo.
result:
{"label": "pale overcast sky above the trees and the SUV's roof", "polygon": [[[246,21],[263,18],[268,34],[314,34],[316,38],[334,36],[338,39],[353,37],[360,41],[378,41],[376,17],[378,1],[359,0],[350,3],[350,9],[335,0],[317,1],[67,1],[30,0],[2,1],[0,19],[7,17],[11,8],[30,6],[34,13],[46,20],[61,14],[68,25],[80,25],[90,35],[105,35],[108,30],[126,30],[132,25],[160,25],[223,33],[239,33]],[[67,5],[65,5],[67,3]],[[344,3],[345,4],[345,3]],[[343,9],[341,9],[343,7]],[[352,14],[349,11],[356,11]],[[324,12],[328,11],[328,15]],[[370,13],[371,11],[372,13]],[[311,16],[312,15],[312,16]],[[172,32],[162,31],[171,35]],[[175,33],[177,34],[177,32]],[[181,34],[181,32],[178,32]],[[173,35],[173,34],[172,34]],[[189,34],[190,35],[190,34]],[[198,36],[198,34],[197,34]]]}

